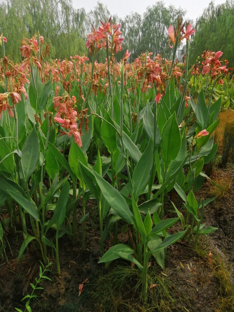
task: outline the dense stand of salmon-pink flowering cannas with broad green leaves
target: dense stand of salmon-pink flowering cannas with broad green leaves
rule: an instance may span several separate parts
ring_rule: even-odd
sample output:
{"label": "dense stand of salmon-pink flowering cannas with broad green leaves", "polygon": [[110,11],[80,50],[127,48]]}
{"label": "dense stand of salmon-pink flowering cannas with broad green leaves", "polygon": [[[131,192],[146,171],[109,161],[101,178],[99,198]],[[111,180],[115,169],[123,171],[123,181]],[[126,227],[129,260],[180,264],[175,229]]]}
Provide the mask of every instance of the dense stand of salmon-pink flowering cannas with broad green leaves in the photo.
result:
{"label": "dense stand of salmon-pink flowering cannas with broad green leaves", "polygon": [[[150,257],[164,269],[168,246],[182,238],[189,242],[193,236],[197,243],[200,234],[215,230],[202,224],[210,200],[197,203],[194,193],[208,178],[203,165],[217,151],[212,132],[219,123],[222,99],[213,93],[215,76],[220,79],[226,68],[216,66],[215,72],[207,72],[208,85],[199,92],[193,87],[198,75],[197,67],[189,69],[189,37],[195,30],[181,19],[168,29],[172,61],[161,55],[152,59],[152,53],[145,52],[129,64],[127,50],[117,64],[115,53],[123,41],[120,25],[111,19],[101,24],[87,37],[91,63],[85,56],[46,62],[39,34],[24,39],[21,65],[3,58],[1,212],[7,211],[13,233],[16,225],[21,226],[24,241],[18,260],[32,244],[45,264],[55,252],[60,274],[59,238],[69,235],[84,250],[86,202],[95,197],[99,262],[123,258],[134,263],[145,301]],[[174,64],[182,40],[186,40],[184,72]],[[101,48],[106,49],[105,64],[96,62]],[[204,66],[213,66],[221,57],[212,54],[216,59],[210,61],[208,56],[203,56]],[[164,217],[168,207],[177,217]],[[3,221],[0,256],[6,258]],[[176,222],[181,222],[181,232],[173,232]],[[118,244],[120,224],[128,233],[128,244]],[[104,253],[109,235],[111,247]]]}

